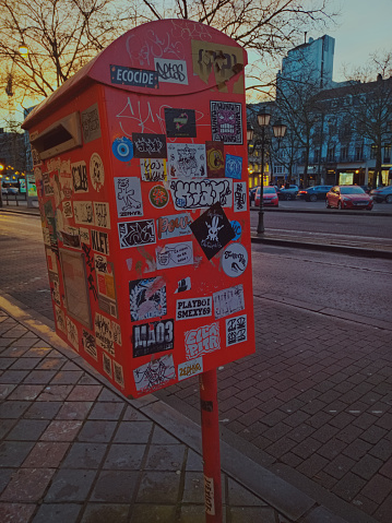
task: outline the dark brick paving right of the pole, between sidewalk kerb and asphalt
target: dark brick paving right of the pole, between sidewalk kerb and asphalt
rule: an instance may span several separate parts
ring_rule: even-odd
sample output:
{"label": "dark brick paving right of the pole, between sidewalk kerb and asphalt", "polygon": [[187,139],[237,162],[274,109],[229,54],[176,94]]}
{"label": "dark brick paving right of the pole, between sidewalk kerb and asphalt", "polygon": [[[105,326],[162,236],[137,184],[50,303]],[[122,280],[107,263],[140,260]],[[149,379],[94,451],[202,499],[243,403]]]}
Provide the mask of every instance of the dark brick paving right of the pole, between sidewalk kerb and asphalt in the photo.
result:
{"label": "dark brick paving right of the pole, between sidewalk kerb and asphalt", "polygon": [[[223,438],[307,494],[333,494],[390,523],[392,325],[263,298],[254,306],[256,354],[218,371]],[[195,384],[158,397],[191,415]]]}

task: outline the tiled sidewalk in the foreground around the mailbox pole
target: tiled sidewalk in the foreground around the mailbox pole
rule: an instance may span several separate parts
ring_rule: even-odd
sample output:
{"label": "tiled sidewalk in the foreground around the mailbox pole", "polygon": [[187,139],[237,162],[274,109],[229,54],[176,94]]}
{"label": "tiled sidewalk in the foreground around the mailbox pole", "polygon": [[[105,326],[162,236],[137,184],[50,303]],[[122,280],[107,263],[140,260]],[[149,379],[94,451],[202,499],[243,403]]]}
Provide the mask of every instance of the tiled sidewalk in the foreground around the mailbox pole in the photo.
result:
{"label": "tiled sidewalk in the foreground around the mailbox pole", "polygon": [[[29,312],[0,298],[1,523],[204,522],[200,427],[120,396]],[[345,521],[225,443],[222,469],[226,523]]]}

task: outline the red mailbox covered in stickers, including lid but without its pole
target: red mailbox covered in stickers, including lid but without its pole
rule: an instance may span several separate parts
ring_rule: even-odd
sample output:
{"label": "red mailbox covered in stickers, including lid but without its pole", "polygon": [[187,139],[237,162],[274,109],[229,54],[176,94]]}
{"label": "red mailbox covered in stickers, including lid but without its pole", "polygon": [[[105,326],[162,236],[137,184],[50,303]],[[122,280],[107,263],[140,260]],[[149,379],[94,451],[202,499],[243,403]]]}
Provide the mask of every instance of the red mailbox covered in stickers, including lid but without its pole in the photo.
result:
{"label": "red mailbox covered in stickers, including lid but without its pole", "polygon": [[57,333],[127,396],[254,352],[246,51],[164,20],[26,118]]}

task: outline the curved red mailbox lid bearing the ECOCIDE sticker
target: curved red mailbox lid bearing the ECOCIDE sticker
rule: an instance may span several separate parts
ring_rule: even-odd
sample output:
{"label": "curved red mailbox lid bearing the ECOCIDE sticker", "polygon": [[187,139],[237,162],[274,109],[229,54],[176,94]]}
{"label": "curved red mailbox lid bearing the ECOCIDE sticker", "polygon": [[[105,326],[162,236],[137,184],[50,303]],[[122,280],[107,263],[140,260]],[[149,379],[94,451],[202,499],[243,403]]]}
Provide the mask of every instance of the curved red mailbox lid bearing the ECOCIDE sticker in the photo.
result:
{"label": "curved red mailbox lid bearing the ECOCIDE sticker", "polygon": [[[165,57],[165,58],[163,58]],[[219,31],[189,20],[159,20],[120,36],[55,93],[39,104],[22,128],[29,130],[59,103],[97,82],[154,96],[186,95],[218,86],[238,76],[243,93],[247,52]]]}

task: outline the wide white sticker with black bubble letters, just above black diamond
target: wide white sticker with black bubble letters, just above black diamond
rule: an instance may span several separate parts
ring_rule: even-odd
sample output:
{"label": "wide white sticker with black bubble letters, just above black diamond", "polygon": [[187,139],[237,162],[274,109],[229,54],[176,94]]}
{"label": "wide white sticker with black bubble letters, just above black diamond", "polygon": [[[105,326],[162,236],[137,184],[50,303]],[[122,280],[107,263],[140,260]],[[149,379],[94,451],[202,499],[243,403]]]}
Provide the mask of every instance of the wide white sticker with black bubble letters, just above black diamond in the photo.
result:
{"label": "wide white sticker with black bubble letters, just above black diamond", "polygon": [[221,203],[223,207],[233,205],[233,180],[230,178],[206,178],[203,180],[170,181],[171,198],[176,211],[211,207]]}

